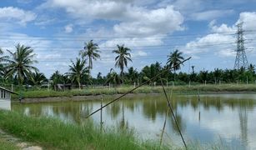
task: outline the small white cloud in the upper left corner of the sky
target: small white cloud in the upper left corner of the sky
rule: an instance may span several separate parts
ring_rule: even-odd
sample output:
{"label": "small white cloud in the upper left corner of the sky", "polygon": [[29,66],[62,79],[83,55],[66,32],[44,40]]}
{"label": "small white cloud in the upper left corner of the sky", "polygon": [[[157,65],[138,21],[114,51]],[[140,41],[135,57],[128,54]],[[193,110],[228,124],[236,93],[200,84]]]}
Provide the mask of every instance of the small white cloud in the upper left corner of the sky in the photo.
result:
{"label": "small white cloud in the upper left corner of the sky", "polygon": [[[0,18],[7,21],[18,21],[25,25],[37,18],[35,13],[24,11],[18,7],[0,7]],[[12,22],[13,23],[13,22]]]}

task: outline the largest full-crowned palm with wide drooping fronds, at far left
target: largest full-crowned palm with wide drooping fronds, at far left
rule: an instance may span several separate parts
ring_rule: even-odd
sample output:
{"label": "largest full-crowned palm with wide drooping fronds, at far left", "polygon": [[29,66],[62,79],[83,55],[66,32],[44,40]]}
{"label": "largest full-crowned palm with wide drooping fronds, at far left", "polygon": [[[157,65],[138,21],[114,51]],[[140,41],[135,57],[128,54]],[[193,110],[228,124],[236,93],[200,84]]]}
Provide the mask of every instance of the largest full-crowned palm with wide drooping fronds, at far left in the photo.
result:
{"label": "largest full-crowned palm with wide drooping fronds, at far left", "polygon": [[21,85],[25,78],[32,77],[33,72],[38,72],[37,67],[33,67],[33,63],[38,62],[33,60],[35,54],[32,47],[26,47],[18,44],[15,52],[7,50],[10,57],[5,59],[8,62],[8,77],[15,77],[18,79],[18,84]]}

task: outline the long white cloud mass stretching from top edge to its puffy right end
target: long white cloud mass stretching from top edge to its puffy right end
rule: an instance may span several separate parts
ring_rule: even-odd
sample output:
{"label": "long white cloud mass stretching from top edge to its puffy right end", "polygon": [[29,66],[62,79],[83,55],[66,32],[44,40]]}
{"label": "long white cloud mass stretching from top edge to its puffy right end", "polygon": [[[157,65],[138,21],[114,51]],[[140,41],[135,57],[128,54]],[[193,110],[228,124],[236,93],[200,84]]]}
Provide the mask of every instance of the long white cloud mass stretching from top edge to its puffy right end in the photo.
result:
{"label": "long white cloud mass stretching from top edge to its puffy right end", "polygon": [[148,36],[183,29],[183,16],[171,5],[148,9],[128,1],[48,0],[47,6],[62,7],[74,18],[117,21],[113,31],[122,36]]}

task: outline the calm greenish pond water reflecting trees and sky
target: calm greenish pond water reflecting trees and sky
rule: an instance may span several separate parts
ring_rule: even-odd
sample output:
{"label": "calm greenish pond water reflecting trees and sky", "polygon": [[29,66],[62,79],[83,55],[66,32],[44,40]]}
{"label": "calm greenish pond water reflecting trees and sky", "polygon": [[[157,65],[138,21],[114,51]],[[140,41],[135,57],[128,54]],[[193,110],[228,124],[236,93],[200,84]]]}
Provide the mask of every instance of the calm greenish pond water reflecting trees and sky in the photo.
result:
{"label": "calm greenish pond water reflecting trees and sky", "polygon": [[[103,104],[109,102],[104,97]],[[33,116],[53,116],[72,122],[86,122],[100,101],[12,103],[12,110]],[[174,113],[185,141],[224,143],[233,149],[256,149],[256,94],[176,95]],[[133,128],[140,138],[160,140],[163,122],[164,143],[182,145],[166,99],[162,95],[126,97],[103,109],[103,124],[115,128]],[[100,122],[100,112],[91,117]]]}

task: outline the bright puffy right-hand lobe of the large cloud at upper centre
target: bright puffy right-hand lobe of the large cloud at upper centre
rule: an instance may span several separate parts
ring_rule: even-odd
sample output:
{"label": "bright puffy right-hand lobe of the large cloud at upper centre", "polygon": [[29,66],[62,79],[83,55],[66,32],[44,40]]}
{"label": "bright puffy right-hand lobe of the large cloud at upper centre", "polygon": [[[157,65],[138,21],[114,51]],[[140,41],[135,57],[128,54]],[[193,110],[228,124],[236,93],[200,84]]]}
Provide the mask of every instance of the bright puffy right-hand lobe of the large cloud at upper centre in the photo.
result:
{"label": "bright puffy right-hand lobe of the large cloud at upper centre", "polygon": [[138,9],[129,12],[128,21],[123,21],[113,27],[121,35],[154,35],[165,34],[183,29],[183,16],[173,9],[173,6],[154,10]]}

